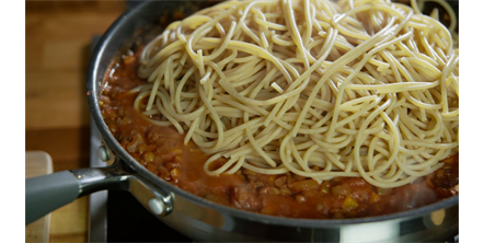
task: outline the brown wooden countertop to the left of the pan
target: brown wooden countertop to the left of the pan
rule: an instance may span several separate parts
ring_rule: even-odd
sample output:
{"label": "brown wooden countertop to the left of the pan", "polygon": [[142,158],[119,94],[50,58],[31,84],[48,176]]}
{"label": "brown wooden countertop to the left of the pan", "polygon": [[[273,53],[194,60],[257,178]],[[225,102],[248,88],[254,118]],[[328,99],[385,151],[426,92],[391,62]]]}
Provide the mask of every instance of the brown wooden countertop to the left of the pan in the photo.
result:
{"label": "brown wooden countertop to the left of the pan", "polygon": [[[47,152],[54,172],[89,166],[90,45],[125,8],[122,0],[25,1],[25,151]],[[49,242],[88,242],[88,199],[51,212]]]}

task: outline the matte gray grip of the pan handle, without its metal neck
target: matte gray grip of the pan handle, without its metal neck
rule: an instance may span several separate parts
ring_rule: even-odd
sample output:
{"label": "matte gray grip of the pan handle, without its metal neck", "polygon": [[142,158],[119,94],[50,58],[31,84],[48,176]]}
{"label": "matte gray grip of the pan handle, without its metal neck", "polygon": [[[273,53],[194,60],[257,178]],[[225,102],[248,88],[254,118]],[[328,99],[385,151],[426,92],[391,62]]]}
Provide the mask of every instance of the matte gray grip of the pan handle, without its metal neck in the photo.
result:
{"label": "matte gray grip of the pan handle, without its metal neck", "polygon": [[80,185],[70,171],[25,180],[25,225],[78,198]]}

